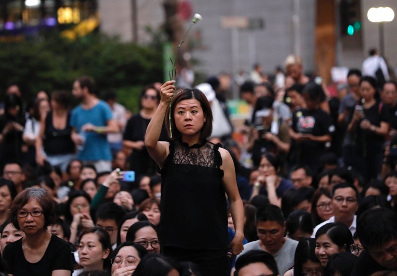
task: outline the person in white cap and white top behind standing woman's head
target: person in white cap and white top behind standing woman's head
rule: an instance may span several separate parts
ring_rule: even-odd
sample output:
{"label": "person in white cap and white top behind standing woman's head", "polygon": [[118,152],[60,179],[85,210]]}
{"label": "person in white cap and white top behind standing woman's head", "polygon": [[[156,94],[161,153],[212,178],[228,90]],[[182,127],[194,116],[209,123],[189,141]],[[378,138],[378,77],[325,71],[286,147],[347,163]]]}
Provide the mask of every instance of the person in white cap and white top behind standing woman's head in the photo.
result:
{"label": "person in white cap and white top behind standing woman's head", "polygon": [[210,137],[218,137],[221,139],[230,137],[233,132],[233,128],[225,113],[223,112],[219,100],[216,98],[215,91],[212,89],[212,86],[209,83],[204,82],[200,83],[195,88],[204,93],[209,105],[211,106],[214,119],[212,122],[212,133]]}

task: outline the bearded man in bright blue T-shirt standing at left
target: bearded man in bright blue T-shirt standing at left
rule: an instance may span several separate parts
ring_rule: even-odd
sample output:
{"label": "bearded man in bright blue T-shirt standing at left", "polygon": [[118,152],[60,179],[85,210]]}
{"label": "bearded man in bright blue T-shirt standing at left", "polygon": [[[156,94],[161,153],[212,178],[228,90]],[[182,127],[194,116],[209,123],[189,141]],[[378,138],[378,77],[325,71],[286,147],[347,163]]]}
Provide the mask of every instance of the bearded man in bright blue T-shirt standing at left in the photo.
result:
{"label": "bearded man in bright blue T-shirt standing at left", "polygon": [[117,133],[119,127],[109,105],[96,97],[94,89],[91,77],[82,76],[73,83],[72,93],[81,104],[71,112],[71,138],[77,146],[78,159],[94,165],[98,172],[110,171],[112,154],[107,134]]}

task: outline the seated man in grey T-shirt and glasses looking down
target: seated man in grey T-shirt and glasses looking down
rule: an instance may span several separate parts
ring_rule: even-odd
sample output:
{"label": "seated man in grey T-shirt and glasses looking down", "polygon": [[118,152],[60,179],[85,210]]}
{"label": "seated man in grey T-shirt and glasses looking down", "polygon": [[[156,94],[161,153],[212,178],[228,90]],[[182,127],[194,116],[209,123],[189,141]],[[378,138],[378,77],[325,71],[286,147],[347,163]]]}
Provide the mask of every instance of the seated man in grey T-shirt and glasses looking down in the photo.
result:
{"label": "seated man in grey T-shirt and glasses looking down", "polygon": [[245,244],[237,258],[250,250],[266,251],[274,257],[279,275],[284,275],[294,265],[298,242],[284,236],[285,218],[279,207],[268,205],[258,210],[257,232],[259,240]]}

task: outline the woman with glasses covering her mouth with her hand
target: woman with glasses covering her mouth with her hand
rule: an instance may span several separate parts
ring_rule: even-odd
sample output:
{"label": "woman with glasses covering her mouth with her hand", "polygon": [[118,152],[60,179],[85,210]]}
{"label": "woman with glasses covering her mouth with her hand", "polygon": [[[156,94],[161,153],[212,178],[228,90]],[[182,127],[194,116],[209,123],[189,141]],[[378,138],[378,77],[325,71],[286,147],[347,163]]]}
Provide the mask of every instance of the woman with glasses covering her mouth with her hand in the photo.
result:
{"label": "woman with glasses covering her mouth with her hand", "polygon": [[135,271],[140,260],[147,254],[143,246],[124,242],[112,252],[112,276],[129,276]]}

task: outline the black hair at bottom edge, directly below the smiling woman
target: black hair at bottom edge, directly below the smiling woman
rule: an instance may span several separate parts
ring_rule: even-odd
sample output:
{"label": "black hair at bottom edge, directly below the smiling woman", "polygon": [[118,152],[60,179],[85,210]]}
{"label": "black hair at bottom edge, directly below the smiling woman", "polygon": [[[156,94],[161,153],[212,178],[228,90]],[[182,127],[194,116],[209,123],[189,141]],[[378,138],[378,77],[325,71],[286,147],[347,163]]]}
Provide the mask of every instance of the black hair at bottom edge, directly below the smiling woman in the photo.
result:
{"label": "black hair at bottom edge, directly below the smiling woman", "polygon": [[356,261],[357,256],[349,251],[333,254],[328,260],[324,276],[351,275]]}

